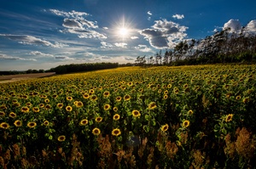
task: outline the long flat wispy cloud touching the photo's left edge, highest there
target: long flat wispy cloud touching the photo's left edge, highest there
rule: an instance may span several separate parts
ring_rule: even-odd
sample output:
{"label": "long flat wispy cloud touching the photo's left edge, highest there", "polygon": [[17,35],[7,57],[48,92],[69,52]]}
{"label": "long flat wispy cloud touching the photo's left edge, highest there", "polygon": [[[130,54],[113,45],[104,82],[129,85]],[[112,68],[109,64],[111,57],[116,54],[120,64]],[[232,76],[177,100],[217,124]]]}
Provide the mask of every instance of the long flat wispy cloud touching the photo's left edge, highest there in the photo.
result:
{"label": "long flat wispy cloud touching the photo's left edge, highest there", "polygon": [[21,44],[40,45],[40,46],[47,46],[47,47],[51,47],[51,48],[62,48],[64,46],[67,46],[60,42],[55,42],[55,44],[54,44],[52,42],[42,40],[38,37],[32,37],[32,36],[28,36],[28,35],[0,34],[0,36],[6,37],[13,41],[17,41]]}

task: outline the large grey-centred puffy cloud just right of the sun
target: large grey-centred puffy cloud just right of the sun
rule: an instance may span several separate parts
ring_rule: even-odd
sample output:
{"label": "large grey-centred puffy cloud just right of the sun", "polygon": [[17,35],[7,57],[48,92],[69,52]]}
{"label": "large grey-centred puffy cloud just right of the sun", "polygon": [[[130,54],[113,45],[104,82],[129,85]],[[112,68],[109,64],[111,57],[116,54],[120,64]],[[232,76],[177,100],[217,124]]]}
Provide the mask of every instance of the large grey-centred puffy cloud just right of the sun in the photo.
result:
{"label": "large grey-centred puffy cloud just right of the sun", "polygon": [[173,48],[173,44],[177,44],[187,36],[185,31],[188,27],[166,19],[155,20],[151,27],[140,31],[140,33],[148,39],[154,48]]}

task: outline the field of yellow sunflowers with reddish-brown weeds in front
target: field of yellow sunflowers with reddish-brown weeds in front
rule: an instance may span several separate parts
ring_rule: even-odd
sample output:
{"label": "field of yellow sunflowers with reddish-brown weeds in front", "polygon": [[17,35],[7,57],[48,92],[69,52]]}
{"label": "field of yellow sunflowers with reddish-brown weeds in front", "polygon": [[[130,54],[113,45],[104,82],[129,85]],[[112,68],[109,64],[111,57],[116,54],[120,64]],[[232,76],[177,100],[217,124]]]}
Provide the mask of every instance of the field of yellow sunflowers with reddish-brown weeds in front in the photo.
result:
{"label": "field of yellow sunflowers with reddish-brown weeds in front", "polygon": [[0,84],[0,166],[255,168],[255,73],[135,66]]}

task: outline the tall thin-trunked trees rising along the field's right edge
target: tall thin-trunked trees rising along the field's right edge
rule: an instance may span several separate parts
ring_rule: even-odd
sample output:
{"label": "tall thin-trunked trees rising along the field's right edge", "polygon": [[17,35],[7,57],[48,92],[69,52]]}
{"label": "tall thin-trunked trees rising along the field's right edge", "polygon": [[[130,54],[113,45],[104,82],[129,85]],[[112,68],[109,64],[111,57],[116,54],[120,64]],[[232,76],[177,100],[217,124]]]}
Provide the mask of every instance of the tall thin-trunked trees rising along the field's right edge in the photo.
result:
{"label": "tall thin-trunked trees rising along the field's right edge", "polygon": [[146,58],[138,56],[136,65],[198,65],[256,61],[256,34],[245,27],[230,32],[230,28],[217,31],[202,40],[185,40],[162,54],[162,50]]}

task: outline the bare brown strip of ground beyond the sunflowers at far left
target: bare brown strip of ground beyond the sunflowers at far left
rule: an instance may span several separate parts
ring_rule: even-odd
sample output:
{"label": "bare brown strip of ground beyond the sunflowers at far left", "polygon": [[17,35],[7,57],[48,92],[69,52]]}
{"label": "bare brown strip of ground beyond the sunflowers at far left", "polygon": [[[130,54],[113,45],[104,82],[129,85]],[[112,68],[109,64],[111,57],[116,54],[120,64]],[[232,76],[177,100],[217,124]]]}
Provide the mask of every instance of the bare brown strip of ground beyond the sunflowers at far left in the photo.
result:
{"label": "bare brown strip of ground beyond the sunflowers at far left", "polygon": [[39,78],[39,77],[45,77],[45,76],[53,76],[53,75],[55,75],[55,72],[0,76],[0,83],[17,82],[17,81],[22,81],[22,80],[26,80],[26,79]]}

